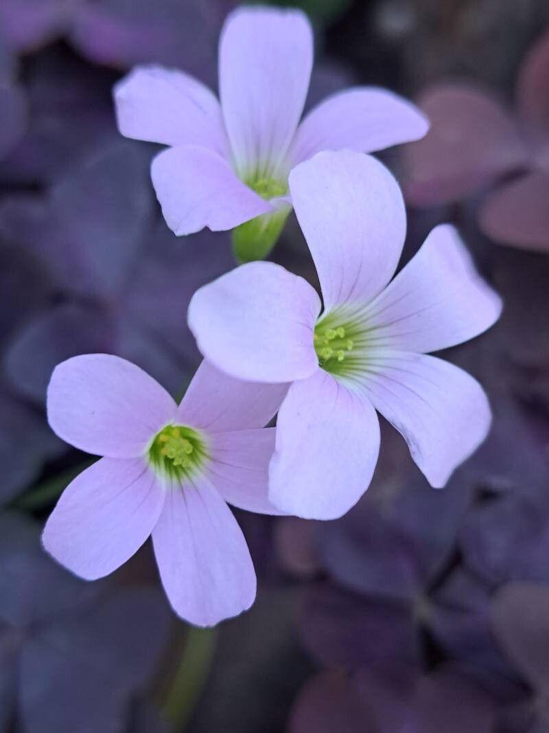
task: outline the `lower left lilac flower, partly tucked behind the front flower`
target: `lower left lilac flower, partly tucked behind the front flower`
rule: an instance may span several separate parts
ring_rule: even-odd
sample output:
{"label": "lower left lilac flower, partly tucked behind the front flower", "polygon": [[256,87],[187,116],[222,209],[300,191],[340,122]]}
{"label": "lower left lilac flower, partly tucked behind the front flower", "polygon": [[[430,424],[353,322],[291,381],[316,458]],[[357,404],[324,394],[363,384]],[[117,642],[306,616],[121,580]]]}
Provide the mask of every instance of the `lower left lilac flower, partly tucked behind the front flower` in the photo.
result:
{"label": "lower left lilac flower, partly tucked behind the front flower", "polygon": [[108,575],[152,534],[173,610],[209,626],[255,598],[255,572],[225,501],[277,514],[267,498],[275,414],[285,386],[246,384],[203,361],[178,406],[117,356],[59,364],[48,419],[67,443],[103,457],[64,491],[44,546],[86,580]]}

